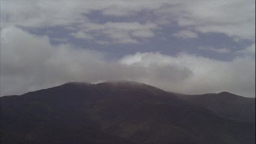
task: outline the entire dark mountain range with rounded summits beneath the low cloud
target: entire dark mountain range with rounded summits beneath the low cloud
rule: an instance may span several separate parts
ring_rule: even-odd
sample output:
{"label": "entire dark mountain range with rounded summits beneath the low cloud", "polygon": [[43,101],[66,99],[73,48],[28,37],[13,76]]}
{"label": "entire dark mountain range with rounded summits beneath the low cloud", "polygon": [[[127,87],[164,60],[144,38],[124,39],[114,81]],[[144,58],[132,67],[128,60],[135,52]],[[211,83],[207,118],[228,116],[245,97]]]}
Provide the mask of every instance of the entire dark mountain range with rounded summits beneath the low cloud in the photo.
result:
{"label": "entire dark mountain range with rounded summits beneath the low cloud", "polygon": [[255,121],[246,119],[255,115],[248,106],[255,99],[231,93],[186,96],[130,81],[73,82],[0,100],[3,143],[255,143]]}

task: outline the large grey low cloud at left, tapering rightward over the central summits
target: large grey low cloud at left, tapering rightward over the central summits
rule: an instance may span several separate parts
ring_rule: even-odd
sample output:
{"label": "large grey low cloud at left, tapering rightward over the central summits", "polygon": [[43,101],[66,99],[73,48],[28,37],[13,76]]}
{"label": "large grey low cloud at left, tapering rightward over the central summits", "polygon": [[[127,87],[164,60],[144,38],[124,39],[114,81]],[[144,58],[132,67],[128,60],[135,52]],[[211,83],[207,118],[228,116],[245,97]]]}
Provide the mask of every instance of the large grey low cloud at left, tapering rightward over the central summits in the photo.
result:
{"label": "large grey low cloud at left, tapering rightward over the central summits", "polygon": [[[159,74],[158,74],[159,73]],[[108,61],[102,53],[74,48],[69,44],[53,46],[16,27],[1,30],[1,96],[53,87],[69,81],[132,80],[152,77],[177,81],[186,71],[175,66],[129,66]],[[173,77],[173,74],[177,74]],[[179,75],[180,74],[180,75]]]}

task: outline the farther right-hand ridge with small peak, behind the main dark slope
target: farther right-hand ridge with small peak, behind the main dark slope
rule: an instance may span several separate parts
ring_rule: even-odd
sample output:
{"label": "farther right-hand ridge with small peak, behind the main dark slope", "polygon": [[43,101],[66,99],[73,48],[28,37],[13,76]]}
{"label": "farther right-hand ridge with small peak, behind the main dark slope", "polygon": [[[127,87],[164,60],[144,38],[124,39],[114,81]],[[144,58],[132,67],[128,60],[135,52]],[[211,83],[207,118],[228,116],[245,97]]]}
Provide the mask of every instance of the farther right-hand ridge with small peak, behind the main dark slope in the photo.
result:
{"label": "farther right-hand ridge with small peak, behind the main dark slope", "polygon": [[213,111],[220,117],[255,122],[255,98],[245,98],[225,91],[194,96],[182,95],[179,98]]}

